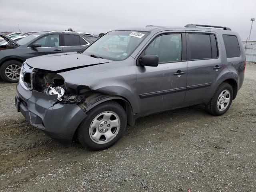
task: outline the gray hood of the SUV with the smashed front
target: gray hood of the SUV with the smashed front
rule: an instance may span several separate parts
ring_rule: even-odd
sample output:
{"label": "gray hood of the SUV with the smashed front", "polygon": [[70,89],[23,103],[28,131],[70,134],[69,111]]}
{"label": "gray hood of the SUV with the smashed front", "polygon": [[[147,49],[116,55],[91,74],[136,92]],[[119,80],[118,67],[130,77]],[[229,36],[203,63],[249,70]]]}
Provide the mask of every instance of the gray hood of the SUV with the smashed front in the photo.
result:
{"label": "gray hood of the SUV with the smashed front", "polygon": [[49,71],[72,70],[109,62],[114,61],[94,58],[77,52],[50,54],[26,60],[26,63],[33,68]]}

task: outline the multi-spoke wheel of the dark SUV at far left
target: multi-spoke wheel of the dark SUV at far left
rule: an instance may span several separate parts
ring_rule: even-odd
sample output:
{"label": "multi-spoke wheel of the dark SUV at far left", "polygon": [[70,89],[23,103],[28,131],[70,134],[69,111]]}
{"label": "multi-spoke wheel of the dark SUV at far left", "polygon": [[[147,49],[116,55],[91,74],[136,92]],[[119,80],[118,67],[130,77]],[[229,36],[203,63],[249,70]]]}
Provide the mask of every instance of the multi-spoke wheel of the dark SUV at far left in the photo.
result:
{"label": "multi-spoke wheel of the dark SUV at far left", "polygon": [[0,75],[3,80],[9,83],[16,83],[20,78],[20,69],[22,62],[16,60],[9,60],[0,67]]}

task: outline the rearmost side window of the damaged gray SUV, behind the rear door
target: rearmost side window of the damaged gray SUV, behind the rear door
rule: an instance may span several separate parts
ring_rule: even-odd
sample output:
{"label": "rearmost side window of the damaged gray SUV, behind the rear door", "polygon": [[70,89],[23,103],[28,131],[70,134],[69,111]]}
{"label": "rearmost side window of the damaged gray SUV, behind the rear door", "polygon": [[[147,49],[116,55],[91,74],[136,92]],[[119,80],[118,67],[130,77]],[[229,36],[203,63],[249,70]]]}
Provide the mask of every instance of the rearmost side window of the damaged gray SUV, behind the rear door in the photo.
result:
{"label": "rearmost side window of the damaged gray SUV, behind the rear door", "polygon": [[237,37],[234,35],[223,35],[227,58],[239,57],[240,48]]}

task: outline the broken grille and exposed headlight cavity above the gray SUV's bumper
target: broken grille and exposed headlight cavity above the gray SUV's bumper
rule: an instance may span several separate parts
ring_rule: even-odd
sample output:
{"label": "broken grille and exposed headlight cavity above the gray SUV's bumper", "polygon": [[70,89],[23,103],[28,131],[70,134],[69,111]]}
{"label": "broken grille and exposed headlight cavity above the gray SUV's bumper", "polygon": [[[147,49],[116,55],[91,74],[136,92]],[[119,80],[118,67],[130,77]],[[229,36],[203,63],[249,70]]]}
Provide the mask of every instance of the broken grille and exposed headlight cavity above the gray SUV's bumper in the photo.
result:
{"label": "broken grille and exposed headlight cavity above the gray SUV's bumper", "polygon": [[56,103],[78,104],[83,102],[88,86],[69,85],[58,72],[31,68],[24,62],[21,69],[20,84],[26,90],[34,90],[47,95],[56,96]]}

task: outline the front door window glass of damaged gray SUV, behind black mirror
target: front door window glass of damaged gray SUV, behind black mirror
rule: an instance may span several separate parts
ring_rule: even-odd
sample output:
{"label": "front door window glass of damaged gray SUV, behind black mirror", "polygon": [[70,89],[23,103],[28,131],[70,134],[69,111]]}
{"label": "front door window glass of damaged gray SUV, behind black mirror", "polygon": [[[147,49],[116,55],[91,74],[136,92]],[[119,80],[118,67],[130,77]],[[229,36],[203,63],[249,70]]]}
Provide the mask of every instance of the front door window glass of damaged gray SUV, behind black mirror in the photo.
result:
{"label": "front door window glass of damaged gray SUV, behind black mirror", "polygon": [[157,55],[159,63],[180,61],[182,58],[181,34],[166,34],[155,38],[145,54]]}

